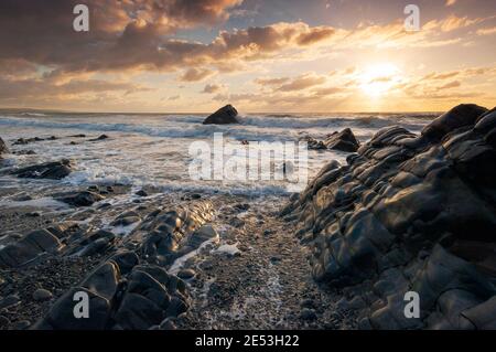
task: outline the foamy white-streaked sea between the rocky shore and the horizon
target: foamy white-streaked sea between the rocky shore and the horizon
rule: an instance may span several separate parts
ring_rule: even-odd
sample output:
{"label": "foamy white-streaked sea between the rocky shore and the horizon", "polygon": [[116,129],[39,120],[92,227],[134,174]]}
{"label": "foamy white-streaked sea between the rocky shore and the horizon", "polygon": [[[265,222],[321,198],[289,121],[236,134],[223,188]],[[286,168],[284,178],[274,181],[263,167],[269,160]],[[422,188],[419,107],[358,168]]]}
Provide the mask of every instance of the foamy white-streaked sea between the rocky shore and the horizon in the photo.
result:
{"label": "foamy white-streaked sea between the rocky shore and the horizon", "polygon": [[[250,178],[192,177],[192,146],[214,146],[222,136],[231,146],[294,143],[305,136],[325,139],[334,131],[351,128],[363,143],[379,129],[397,125],[419,134],[439,114],[252,114],[239,116],[239,125],[203,125],[204,114],[73,114],[0,111],[0,137],[11,153],[0,164],[0,189],[18,190],[0,195],[0,206],[14,204],[23,194],[48,194],[54,189],[89,185],[125,184],[132,191],[153,186],[161,192],[202,192],[240,194],[254,198],[287,196],[294,192],[287,180]],[[85,138],[72,136],[85,135]],[[93,140],[106,135],[109,138]],[[50,137],[55,136],[55,139]],[[19,138],[44,140],[14,145]],[[241,147],[242,148],[242,147]],[[248,147],[247,147],[248,148]],[[208,149],[205,147],[205,149]],[[32,150],[34,153],[25,153]],[[208,151],[207,151],[208,152]],[[229,157],[251,158],[224,151]],[[228,154],[226,154],[228,153]],[[348,152],[308,150],[304,168],[309,180],[331,160],[346,163]],[[196,156],[197,157],[197,156]],[[63,180],[18,179],[10,171],[25,166],[71,159],[74,171]],[[214,162],[219,156],[212,152]],[[258,157],[259,158],[259,157]],[[277,168],[277,166],[273,166]],[[285,167],[285,166],[284,166]],[[214,174],[215,170],[212,170]],[[284,170],[285,172],[285,170]],[[0,193],[2,194],[2,193]],[[50,206],[50,200],[42,198]],[[30,201],[35,202],[35,201]]]}

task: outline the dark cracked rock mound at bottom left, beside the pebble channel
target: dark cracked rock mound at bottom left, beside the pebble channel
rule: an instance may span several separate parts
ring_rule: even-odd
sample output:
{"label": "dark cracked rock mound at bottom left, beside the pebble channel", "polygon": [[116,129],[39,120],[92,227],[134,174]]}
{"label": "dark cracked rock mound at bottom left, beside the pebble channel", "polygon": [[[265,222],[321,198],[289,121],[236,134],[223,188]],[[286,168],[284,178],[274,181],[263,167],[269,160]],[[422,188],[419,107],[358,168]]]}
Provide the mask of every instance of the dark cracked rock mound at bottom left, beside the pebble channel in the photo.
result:
{"label": "dark cracked rock mound at bottom left, beside the pebble channel", "polygon": [[[132,252],[110,257],[62,296],[32,329],[147,330],[186,311],[190,299],[184,281],[139,262]],[[76,303],[85,297],[88,314],[80,319]]]}

